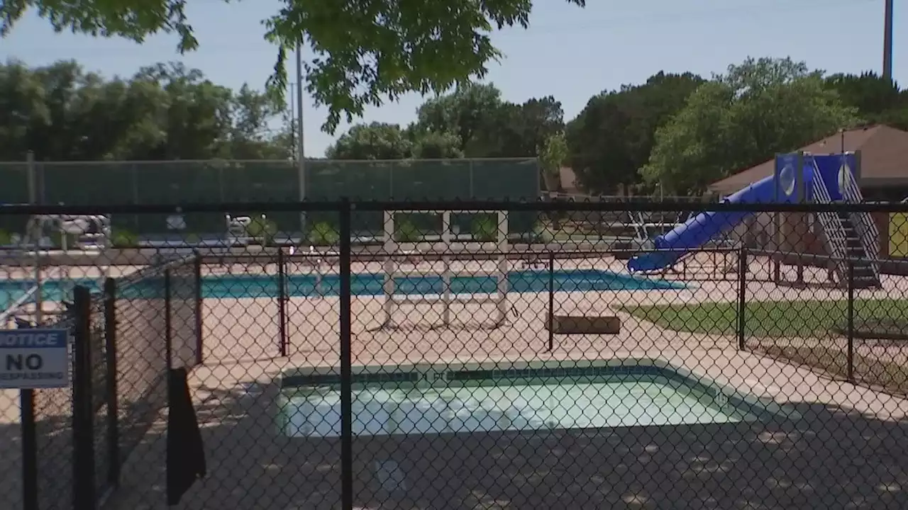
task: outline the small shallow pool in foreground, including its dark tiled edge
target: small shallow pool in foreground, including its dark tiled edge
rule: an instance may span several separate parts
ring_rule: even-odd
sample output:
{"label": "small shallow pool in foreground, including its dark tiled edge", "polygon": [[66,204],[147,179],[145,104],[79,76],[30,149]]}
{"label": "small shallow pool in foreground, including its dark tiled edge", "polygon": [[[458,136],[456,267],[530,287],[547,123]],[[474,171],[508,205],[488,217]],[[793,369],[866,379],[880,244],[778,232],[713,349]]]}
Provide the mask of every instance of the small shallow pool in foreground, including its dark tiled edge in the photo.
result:
{"label": "small shallow pool in foreground, including its dark tiled edge", "polygon": [[[617,361],[617,362],[616,362]],[[355,374],[353,433],[427,435],[754,421],[770,406],[650,359],[605,365],[397,367]],[[387,368],[386,368],[387,370]],[[338,376],[282,378],[279,420],[291,437],[341,434]]]}

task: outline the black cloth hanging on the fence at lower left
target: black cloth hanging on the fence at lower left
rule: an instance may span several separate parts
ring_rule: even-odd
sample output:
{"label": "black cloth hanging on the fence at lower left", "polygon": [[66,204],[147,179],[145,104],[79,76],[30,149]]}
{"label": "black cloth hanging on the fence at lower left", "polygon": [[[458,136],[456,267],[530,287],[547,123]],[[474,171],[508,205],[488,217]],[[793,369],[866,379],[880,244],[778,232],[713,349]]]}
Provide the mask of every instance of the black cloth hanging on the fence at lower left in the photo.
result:
{"label": "black cloth hanging on the fence at lower left", "polygon": [[177,505],[195,483],[205,476],[202,433],[192,408],[185,368],[168,374],[170,414],[167,417],[167,505]]}

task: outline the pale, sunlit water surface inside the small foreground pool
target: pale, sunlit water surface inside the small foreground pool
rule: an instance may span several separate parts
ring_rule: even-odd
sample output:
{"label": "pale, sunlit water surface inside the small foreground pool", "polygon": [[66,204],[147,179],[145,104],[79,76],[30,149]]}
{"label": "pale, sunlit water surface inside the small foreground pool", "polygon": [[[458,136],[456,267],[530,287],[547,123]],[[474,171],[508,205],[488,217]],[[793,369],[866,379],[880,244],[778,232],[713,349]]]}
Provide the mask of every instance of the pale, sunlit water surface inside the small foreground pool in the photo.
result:
{"label": "pale, sunlit water surface inside the small foreground pool", "polygon": [[[336,386],[289,388],[279,407],[287,436],[341,434],[341,392]],[[499,379],[447,387],[373,383],[354,386],[352,407],[353,434],[360,436],[671,426],[755,419],[732,407],[720,391],[658,375]]]}

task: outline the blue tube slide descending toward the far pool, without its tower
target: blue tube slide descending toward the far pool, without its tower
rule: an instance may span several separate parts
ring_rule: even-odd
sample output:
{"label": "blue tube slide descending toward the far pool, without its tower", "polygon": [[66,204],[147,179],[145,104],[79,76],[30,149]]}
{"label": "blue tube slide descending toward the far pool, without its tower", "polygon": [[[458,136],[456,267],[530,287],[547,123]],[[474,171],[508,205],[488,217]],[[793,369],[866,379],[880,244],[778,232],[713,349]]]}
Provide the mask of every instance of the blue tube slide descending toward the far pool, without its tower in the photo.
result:
{"label": "blue tube slide descending toward the far pool, without its tower", "polygon": [[[813,179],[812,164],[804,165],[804,183]],[[807,188],[809,189],[809,187]],[[748,185],[723,200],[725,203],[772,203],[776,197],[775,174]],[[790,200],[790,199],[788,199]],[[781,201],[788,201],[783,199]],[[656,271],[671,267],[688,251],[696,250],[716,236],[732,230],[744,221],[751,212],[747,211],[706,211],[697,214],[674,230],[653,240],[656,251],[642,253],[627,261],[632,272]]]}

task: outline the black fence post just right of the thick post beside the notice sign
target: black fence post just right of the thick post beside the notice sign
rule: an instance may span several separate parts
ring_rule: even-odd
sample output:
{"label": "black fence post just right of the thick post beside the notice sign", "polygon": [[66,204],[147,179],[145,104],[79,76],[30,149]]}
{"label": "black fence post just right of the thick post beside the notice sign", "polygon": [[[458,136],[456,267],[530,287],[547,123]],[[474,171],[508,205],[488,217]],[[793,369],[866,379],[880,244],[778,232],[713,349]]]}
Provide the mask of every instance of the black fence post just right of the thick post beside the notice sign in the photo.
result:
{"label": "black fence post just right of the thick post beside the notice sign", "polygon": [[120,485],[120,422],[117,397],[116,280],[104,280],[104,352],[107,353],[107,483]]}

